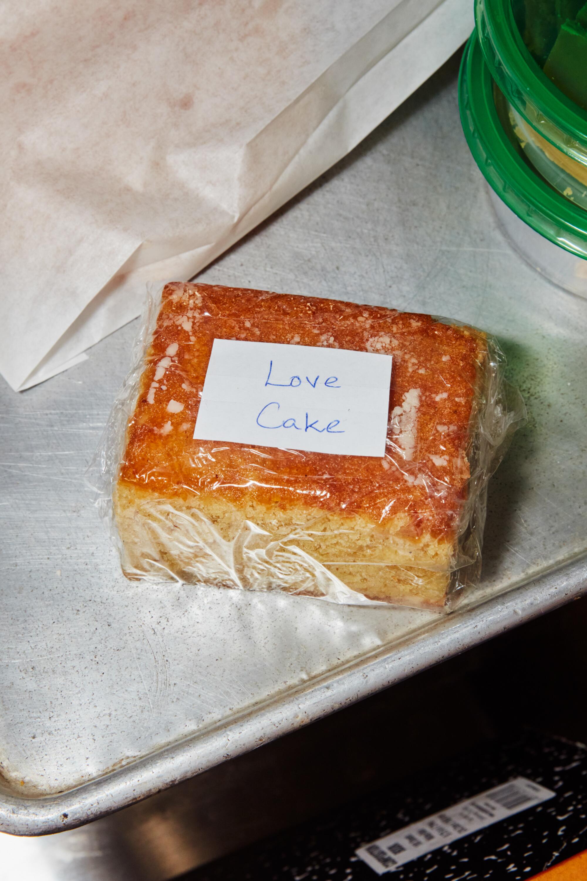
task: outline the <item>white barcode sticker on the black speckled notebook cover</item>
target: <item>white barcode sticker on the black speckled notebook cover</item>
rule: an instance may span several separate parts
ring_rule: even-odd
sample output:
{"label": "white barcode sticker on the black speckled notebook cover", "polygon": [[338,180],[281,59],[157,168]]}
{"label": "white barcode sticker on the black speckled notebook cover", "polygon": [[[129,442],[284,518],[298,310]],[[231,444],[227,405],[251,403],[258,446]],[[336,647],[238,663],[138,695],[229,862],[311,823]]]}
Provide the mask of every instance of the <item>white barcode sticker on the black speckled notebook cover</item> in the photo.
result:
{"label": "white barcode sticker on the black speckled notebook cover", "polygon": [[485,829],[498,820],[546,802],[555,795],[552,789],[539,786],[525,777],[516,777],[509,783],[487,789],[479,796],[467,798],[446,811],[439,811],[398,832],[372,841],[356,853],[378,875],[383,875],[418,856],[479,832],[479,829]]}

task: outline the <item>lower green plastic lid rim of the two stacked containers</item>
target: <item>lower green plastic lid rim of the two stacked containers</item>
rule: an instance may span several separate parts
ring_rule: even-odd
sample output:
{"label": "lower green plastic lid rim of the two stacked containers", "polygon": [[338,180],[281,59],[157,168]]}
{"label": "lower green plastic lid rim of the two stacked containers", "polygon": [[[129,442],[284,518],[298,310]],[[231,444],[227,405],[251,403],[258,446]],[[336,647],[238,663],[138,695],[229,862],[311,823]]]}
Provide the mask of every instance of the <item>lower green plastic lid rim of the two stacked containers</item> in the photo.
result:
{"label": "lower green plastic lid rim of the two stacked containers", "polygon": [[537,233],[587,259],[587,211],[557,193],[524,159],[477,33],[464,50],[458,101],[473,159],[495,193]]}

